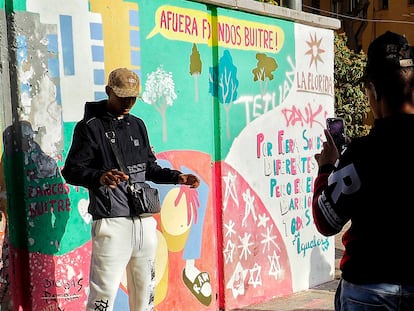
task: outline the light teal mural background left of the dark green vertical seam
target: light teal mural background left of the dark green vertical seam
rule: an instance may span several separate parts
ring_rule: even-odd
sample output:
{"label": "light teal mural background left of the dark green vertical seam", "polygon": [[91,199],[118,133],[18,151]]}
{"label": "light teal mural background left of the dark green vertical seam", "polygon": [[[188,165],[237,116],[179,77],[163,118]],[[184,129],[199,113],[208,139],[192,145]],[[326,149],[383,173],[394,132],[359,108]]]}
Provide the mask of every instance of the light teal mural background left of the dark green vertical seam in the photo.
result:
{"label": "light teal mural background left of the dark green vertical seam", "polygon": [[[156,152],[187,149],[212,154],[214,99],[208,93],[208,68],[213,63],[211,48],[196,44],[202,69],[200,75],[195,76],[190,74],[190,56],[194,42],[169,40],[160,33],[146,39],[154,29],[154,16],[159,3],[150,1],[140,6],[142,87],[145,92],[148,75],[162,66],[163,70],[172,74],[177,98],[166,109],[165,124],[154,106],[142,101],[135,105],[133,113],[146,122]],[[181,10],[185,8],[205,12],[205,5],[197,3],[169,1],[168,5],[179,6]],[[166,130],[166,140],[163,130]]]}

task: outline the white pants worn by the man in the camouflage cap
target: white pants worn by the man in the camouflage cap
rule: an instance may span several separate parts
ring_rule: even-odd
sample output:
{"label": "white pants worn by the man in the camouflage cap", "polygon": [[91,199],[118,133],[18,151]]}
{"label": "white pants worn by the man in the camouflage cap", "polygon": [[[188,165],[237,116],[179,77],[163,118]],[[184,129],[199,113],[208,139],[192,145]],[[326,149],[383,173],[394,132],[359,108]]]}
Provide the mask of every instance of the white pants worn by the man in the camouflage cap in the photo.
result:
{"label": "white pants worn by the man in the camouflage cap", "polygon": [[153,310],[157,243],[153,217],[95,220],[87,311],[113,310],[125,270],[130,311]]}

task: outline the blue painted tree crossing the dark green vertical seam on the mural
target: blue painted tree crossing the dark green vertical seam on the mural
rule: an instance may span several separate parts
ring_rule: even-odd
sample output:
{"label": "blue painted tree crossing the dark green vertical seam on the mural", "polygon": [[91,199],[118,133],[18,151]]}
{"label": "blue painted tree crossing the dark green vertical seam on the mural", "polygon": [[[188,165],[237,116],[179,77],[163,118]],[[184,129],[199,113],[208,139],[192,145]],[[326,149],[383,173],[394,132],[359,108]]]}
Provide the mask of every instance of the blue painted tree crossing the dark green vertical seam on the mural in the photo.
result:
{"label": "blue painted tree crossing the dark green vertical seam on the mural", "polygon": [[228,50],[219,59],[218,67],[210,67],[210,88],[209,92],[216,97],[220,104],[224,106],[226,112],[226,132],[230,138],[230,109],[233,102],[237,99],[237,67],[233,64],[233,59]]}

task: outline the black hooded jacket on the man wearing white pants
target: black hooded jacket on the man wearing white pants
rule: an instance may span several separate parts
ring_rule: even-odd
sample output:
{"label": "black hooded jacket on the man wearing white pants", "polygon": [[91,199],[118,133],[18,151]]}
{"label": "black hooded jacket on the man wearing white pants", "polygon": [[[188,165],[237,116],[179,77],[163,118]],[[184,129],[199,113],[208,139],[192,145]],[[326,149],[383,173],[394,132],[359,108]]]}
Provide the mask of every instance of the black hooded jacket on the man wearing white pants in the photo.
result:
{"label": "black hooded jacket on the man wearing white pants", "polygon": [[[144,122],[133,115],[117,119],[107,112],[107,100],[87,102],[84,118],[75,126],[72,145],[62,175],[73,185],[89,190],[89,213],[93,219],[130,216],[127,182],[116,189],[102,186],[102,174],[111,169],[121,170],[106,131],[115,132],[119,150],[132,182],[176,184],[180,171],[160,167],[151,150]],[[105,129],[104,124],[107,124]]]}

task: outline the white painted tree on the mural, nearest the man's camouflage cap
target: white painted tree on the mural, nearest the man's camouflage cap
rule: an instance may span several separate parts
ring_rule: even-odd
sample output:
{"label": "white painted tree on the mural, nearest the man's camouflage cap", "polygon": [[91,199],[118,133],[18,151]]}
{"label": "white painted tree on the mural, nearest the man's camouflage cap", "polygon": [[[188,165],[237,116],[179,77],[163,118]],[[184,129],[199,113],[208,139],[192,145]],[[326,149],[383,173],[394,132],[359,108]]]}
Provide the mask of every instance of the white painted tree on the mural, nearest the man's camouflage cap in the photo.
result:
{"label": "white painted tree on the mural, nearest the man's camouflage cap", "polygon": [[156,71],[147,75],[145,91],[142,94],[145,103],[153,105],[162,118],[163,140],[167,141],[167,108],[177,99],[175,84],[171,72],[166,72],[159,66]]}

